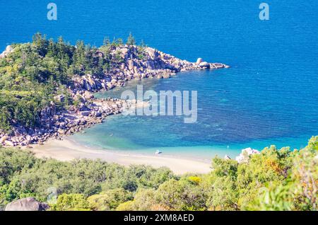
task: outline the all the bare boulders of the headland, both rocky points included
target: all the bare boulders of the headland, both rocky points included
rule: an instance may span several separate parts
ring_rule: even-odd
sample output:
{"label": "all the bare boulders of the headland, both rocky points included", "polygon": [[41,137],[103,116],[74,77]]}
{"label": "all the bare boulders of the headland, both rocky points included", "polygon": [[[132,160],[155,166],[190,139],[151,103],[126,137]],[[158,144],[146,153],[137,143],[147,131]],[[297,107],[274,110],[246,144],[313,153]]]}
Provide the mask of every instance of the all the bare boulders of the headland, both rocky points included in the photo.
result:
{"label": "all the bare boulders of the headland, both rocky points included", "polygon": [[[0,58],[8,57],[11,52],[14,52],[14,48],[6,47]],[[110,54],[120,60],[113,64],[107,73],[102,76],[75,74],[67,87],[68,96],[64,94],[55,96],[54,100],[41,110],[40,125],[33,129],[17,125],[10,133],[0,132],[0,144],[27,147],[30,147],[30,144],[42,144],[49,138],[61,139],[65,135],[81,132],[86,127],[102,122],[108,115],[122,113],[124,108],[142,107],[143,104],[136,101],[96,99],[93,96],[97,91],[124,86],[129,80],[167,79],[182,71],[228,68],[228,65],[204,62],[201,58],[196,62],[188,62],[151,47],[144,47],[142,54],[140,52],[139,47],[135,45],[112,47]],[[93,54],[97,60],[105,57],[100,50],[95,50]],[[77,104],[57,110],[57,104],[63,103],[66,98],[71,98]]]}

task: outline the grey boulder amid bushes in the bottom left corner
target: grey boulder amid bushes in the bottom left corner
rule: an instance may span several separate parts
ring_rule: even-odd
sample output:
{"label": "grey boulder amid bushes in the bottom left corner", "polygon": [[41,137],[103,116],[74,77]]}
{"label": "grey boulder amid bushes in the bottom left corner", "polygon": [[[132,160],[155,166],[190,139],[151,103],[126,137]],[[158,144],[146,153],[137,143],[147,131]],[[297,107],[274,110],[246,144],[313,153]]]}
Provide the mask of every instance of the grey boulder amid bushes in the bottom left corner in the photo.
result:
{"label": "grey boulder amid bushes in the bottom left corner", "polygon": [[6,205],[5,211],[45,211],[49,205],[37,202],[34,197],[26,197]]}

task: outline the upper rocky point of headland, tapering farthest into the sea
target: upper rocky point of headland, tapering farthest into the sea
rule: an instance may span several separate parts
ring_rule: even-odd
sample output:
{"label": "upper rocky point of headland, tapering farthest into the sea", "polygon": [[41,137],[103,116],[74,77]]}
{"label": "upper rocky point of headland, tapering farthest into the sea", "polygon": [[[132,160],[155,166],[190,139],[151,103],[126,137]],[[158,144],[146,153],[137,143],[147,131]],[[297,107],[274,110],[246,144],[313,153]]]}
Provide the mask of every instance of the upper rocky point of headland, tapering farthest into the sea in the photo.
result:
{"label": "upper rocky point of headland, tapering farthest into the sea", "polygon": [[138,47],[128,45],[114,48],[110,54],[115,55],[120,52],[122,63],[111,71],[108,71],[107,74],[102,74],[102,76],[92,76],[91,74],[74,76],[74,90],[110,90],[115,87],[124,86],[124,83],[131,79],[144,79],[148,77],[167,79],[180,71],[228,68],[228,65],[204,62],[201,58],[196,63],[188,62],[187,60],[178,59],[151,47],[146,47],[143,50],[142,57],[137,55],[136,52],[139,51]]}

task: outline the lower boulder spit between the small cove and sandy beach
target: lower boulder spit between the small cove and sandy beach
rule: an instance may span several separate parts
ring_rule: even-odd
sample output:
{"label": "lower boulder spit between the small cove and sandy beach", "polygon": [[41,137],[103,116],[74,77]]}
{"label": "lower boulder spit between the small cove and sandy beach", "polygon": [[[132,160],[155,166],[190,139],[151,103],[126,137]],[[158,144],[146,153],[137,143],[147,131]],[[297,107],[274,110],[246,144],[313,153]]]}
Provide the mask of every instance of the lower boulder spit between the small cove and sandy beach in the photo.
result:
{"label": "lower boulder spit between the small cove and sandy beach", "polygon": [[[89,97],[91,96],[87,98]],[[0,144],[3,146],[29,146],[30,144],[42,144],[52,137],[59,139],[100,123],[108,115],[122,113],[126,108],[133,108],[134,104],[129,100],[114,98],[93,99],[85,100],[85,104],[81,103],[78,108],[72,106],[69,110],[56,112],[55,105],[52,103],[40,113],[42,127],[35,129],[15,127],[11,135],[0,133]]]}

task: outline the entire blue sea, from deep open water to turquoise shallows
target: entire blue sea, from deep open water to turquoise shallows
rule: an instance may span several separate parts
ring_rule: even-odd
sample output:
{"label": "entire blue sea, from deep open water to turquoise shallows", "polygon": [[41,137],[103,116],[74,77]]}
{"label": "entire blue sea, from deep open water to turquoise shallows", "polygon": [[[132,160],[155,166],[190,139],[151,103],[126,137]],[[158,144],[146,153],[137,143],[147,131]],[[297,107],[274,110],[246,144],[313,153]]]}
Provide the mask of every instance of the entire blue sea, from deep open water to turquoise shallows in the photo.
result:
{"label": "entire blue sea, from deep open water to turquoise shallows", "polygon": [[[145,89],[198,91],[198,121],[182,117],[108,117],[72,139],[89,146],[151,153],[235,156],[240,149],[305,146],[318,134],[318,14],[315,0],[54,1],[58,20],[46,19],[45,1],[0,1],[0,48],[27,42],[40,31],[100,45],[104,36],[137,40],[176,57],[223,62],[230,69],[192,71],[142,81]],[[136,81],[99,96],[135,91]]]}

